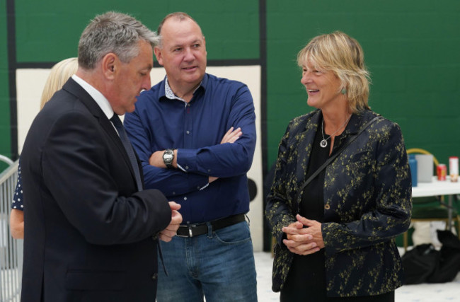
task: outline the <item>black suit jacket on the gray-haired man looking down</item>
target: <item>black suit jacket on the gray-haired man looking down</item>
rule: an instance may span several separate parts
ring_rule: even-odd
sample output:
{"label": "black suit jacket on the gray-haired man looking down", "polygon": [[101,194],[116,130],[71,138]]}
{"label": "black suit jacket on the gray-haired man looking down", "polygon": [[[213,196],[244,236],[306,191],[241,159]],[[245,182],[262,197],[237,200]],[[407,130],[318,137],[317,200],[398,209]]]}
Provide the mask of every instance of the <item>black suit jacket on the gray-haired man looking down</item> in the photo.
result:
{"label": "black suit jacket on the gray-haired man looking down", "polygon": [[22,301],[154,301],[158,190],[137,192],[110,120],[73,79],[35,117],[21,154]]}

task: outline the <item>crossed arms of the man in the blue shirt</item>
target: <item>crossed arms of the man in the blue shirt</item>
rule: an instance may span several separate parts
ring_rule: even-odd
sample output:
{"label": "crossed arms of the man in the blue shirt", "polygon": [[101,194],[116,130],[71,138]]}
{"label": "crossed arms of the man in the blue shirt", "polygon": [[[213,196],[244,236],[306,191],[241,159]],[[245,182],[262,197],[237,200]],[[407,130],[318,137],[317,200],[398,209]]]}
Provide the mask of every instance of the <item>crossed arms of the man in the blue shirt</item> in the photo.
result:
{"label": "crossed arms of the man in the blue shirt", "polygon": [[[125,121],[128,121],[128,134],[142,161],[145,186],[161,188],[167,196],[174,196],[200,190],[216,178],[246,173],[251,168],[256,139],[253,100],[248,89],[241,88],[231,102],[231,110],[224,118],[224,123],[219,120],[216,128],[212,129],[214,133],[222,130],[222,134],[215,136],[215,141],[211,141],[208,146],[178,148],[175,151],[173,165],[180,165],[183,170],[166,169],[163,164],[163,148],[174,148],[173,141],[170,146],[159,149],[153,132],[146,128],[137,111],[125,117]],[[240,128],[242,133],[228,133],[231,127],[235,130]],[[205,137],[209,135],[207,130],[210,129],[203,129],[195,135]],[[181,146],[182,142],[177,145]]]}

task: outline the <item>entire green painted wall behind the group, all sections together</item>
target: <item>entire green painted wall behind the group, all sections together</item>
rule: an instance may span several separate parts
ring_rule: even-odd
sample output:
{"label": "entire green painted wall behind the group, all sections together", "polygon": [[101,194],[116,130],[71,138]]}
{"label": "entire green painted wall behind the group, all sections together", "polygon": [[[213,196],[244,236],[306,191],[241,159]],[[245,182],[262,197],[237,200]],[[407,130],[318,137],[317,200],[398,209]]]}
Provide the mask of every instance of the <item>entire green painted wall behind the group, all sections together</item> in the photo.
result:
{"label": "entire green painted wall behind the group, all sections together", "polygon": [[[81,31],[108,10],[131,13],[152,29],[166,13],[186,11],[202,25],[209,60],[260,59],[259,10],[265,11],[268,165],[289,120],[311,110],[299,83],[297,52],[315,35],[343,30],[364,48],[372,109],[401,125],[408,148],[432,151],[441,162],[460,153],[460,1],[8,2],[16,8],[19,64],[76,56]],[[11,156],[6,0],[0,8],[0,153]]]}

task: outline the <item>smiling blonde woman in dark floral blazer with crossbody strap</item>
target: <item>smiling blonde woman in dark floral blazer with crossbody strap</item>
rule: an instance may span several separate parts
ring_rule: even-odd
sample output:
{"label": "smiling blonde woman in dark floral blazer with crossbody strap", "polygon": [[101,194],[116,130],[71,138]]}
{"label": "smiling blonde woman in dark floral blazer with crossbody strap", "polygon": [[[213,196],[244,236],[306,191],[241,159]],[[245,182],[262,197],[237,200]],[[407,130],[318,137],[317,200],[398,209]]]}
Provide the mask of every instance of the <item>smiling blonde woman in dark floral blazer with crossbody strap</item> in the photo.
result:
{"label": "smiling blonde woman in dark floral blazer with crossbody strap", "polygon": [[304,190],[302,184],[377,116],[360,44],[345,33],[299,52],[307,103],[280,142],[266,216],[280,301],[394,301],[403,284],[395,237],[410,223],[411,182],[398,124],[381,117]]}

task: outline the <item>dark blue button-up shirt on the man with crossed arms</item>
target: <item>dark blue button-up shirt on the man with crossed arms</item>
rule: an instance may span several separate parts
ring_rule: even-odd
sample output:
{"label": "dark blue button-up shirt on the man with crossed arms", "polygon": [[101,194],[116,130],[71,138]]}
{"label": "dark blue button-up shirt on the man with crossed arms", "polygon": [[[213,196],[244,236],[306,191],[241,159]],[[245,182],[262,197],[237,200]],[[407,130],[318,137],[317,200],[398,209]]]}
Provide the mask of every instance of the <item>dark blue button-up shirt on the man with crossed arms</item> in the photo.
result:
{"label": "dark blue button-up shirt on the man with crossed arms", "polygon": [[[248,179],[255,149],[255,113],[248,87],[205,74],[192,100],[165,95],[166,79],[137,98],[125,128],[144,170],[144,187],[181,204],[183,223],[202,223],[249,211]],[[230,127],[243,135],[220,144]],[[178,149],[183,170],[156,168],[152,153]],[[211,182],[209,176],[219,179]]]}

